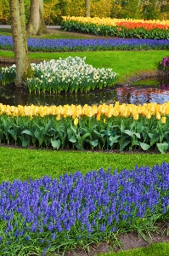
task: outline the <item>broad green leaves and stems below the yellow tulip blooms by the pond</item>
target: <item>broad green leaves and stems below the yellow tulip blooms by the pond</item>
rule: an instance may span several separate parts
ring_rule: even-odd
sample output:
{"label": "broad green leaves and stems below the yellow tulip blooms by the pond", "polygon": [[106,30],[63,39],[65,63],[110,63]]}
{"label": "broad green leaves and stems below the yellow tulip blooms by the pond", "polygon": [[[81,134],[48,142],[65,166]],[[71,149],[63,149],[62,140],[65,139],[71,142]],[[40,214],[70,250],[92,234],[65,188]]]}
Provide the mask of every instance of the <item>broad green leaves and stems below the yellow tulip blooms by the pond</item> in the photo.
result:
{"label": "broad green leaves and stems below the yellow tulip blooms by the pond", "polygon": [[[42,116],[43,113],[40,113]],[[0,142],[14,143],[22,147],[38,148],[75,148],[84,149],[157,149],[166,153],[169,148],[169,130],[161,119],[143,116],[138,120],[132,117],[111,117],[104,122],[104,115],[100,121],[95,117],[82,116],[78,124],[74,120],[65,117],[56,120],[55,116],[45,117],[10,117],[3,114],[0,117]],[[106,132],[113,135],[107,141]]]}

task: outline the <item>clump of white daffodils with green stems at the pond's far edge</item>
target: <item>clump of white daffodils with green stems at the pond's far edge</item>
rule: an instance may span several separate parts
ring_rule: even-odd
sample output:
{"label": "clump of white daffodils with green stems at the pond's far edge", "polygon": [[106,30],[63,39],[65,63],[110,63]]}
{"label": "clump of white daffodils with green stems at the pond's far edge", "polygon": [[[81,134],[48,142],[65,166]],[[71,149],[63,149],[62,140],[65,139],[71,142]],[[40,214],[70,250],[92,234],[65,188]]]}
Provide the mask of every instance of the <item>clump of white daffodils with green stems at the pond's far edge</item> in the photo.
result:
{"label": "clump of white daffodils with green stems at the pond's far edge", "polygon": [[[49,92],[65,93],[69,90],[87,92],[88,90],[102,89],[114,84],[118,75],[112,68],[94,68],[85,63],[86,58],[68,57],[66,59],[43,61],[39,64],[31,63],[34,77],[26,79],[30,93]],[[14,82],[16,66],[2,67],[2,84]]]}

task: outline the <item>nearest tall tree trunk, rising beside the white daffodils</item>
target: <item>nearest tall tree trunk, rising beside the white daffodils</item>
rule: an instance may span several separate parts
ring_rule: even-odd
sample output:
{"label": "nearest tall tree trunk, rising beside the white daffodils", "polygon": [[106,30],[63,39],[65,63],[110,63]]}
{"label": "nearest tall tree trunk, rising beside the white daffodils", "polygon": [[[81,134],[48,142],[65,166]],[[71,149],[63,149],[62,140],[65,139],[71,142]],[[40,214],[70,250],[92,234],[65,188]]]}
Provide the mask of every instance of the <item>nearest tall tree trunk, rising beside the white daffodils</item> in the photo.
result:
{"label": "nearest tall tree trunk, rising beside the white daffodils", "polygon": [[23,77],[27,74],[29,64],[27,37],[25,32],[25,4],[24,0],[9,0],[12,18],[12,34],[14,41],[14,61],[16,64],[15,85],[22,87]]}

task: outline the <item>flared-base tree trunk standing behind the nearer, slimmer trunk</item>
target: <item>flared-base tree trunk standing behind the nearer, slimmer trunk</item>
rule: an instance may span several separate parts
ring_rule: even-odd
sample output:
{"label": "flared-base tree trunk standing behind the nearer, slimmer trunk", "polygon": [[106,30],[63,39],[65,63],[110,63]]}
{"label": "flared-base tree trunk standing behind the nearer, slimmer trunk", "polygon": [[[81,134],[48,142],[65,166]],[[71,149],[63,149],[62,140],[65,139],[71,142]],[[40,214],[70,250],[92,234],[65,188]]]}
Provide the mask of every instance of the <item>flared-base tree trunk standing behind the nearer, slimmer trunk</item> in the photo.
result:
{"label": "flared-base tree trunk standing behind the nearer, slimmer trunk", "polygon": [[31,0],[30,16],[26,29],[28,35],[49,33],[43,20],[43,0]]}

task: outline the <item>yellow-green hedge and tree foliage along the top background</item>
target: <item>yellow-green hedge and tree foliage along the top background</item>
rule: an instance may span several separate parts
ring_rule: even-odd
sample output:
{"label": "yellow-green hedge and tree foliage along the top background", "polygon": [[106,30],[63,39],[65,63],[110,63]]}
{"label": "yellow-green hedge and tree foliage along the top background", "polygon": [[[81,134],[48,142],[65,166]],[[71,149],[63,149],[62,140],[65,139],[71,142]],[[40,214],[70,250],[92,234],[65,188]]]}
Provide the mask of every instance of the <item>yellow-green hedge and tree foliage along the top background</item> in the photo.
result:
{"label": "yellow-green hedge and tree foliage along the top background", "polygon": [[[28,21],[31,0],[25,0],[25,22]],[[85,16],[85,0],[44,0],[46,25],[59,25],[61,16]],[[169,19],[169,0],[90,0],[90,15],[111,18]],[[10,24],[9,1],[0,1],[0,24]]]}

